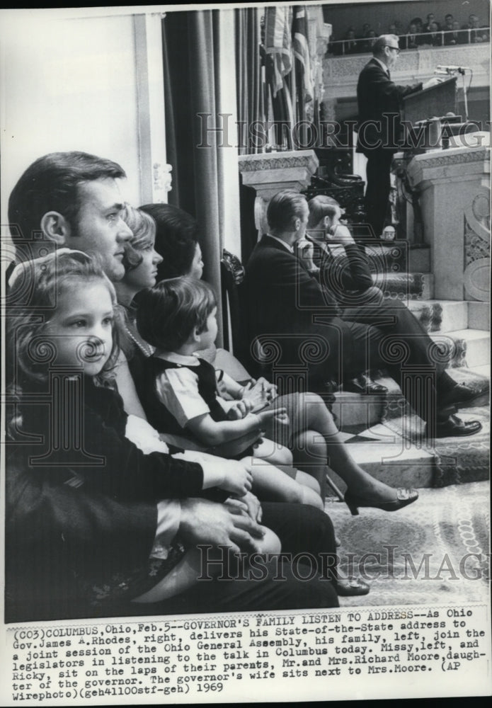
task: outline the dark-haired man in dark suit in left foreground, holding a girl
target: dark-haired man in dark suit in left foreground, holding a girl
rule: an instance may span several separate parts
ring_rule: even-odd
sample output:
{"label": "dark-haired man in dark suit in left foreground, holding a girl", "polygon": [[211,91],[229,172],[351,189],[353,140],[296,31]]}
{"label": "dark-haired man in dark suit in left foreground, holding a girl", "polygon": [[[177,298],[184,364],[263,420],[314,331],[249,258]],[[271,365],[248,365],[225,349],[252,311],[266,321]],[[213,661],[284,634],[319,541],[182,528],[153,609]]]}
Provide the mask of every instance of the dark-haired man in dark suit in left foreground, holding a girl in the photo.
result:
{"label": "dark-haired man in dark suit in left foreground, holding a girl", "polygon": [[[29,261],[41,249],[68,246],[98,255],[111,280],[125,274],[122,253],[132,232],[122,219],[118,180],[125,177],[113,161],[83,152],[43,156],[23,173],[11,193],[8,217],[18,260]],[[39,236],[42,235],[43,238]],[[13,280],[15,286],[15,280]],[[23,306],[25,288],[11,287],[8,307]],[[13,338],[11,338],[13,343]],[[13,364],[15,355],[9,357]],[[18,384],[15,374],[10,382]],[[15,406],[16,403],[11,401]],[[15,413],[15,411],[14,411]],[[45,443],[19,439],[16,416],[8,437],[6,465],[6,621],[91,617],[84,580],[101,571],[125,573],[145,563],[154,544],[224,544],[253,552],[261,537],[256,521],[275,530],[282,551],[307,552],[319,561],[309,581],[295,576],[292,564],[268,564],[264,579],[196,583],[195,588],[158,605],[108,607],[105,614],[174,614],[238,610],[299,609],[338,605],[331,582],[320,580],[321,552],[334,553],[333,527],[322,511],[303,505],[265,503],[253,495],[231,506],[204,498],[149,499],[120,503],[111,496],[89,493],[84,486],[47,484],[36,474],[31,457],[45,452]],[[29,443],[29,444],[26,444]],[[159,453],[154,453],[159,455]],[[210,459],[200,463],[227,464]],[[173,463],[171,463],[173,464]],[[186,462],[188,469],[196,463]],[[248,510],[250,513],[248,513]],[[326,559],[325,559],[326,560]],[[76,567],[77,574],[74,573]],[[275,582],[285,574],[287,582]],[[308,585],[306,584],[308,582]]]}

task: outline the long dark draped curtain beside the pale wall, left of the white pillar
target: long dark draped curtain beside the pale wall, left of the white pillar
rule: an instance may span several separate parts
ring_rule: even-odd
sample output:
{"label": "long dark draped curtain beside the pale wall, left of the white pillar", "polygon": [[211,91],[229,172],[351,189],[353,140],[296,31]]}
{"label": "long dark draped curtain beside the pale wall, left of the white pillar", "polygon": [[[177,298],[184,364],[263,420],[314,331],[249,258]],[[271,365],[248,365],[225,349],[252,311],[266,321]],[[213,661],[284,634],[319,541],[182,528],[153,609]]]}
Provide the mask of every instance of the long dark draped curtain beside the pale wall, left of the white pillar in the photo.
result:
{"label": "long dark draped curtain beside the pale wall, left of the white pillar", "polygon": [[[222,110],[219,11],[168,13],[162,21],[166,147],[173,166],[169,203],[192,214],[200,226],[203,277],[217,293],[217,346],[222,346],[220,259],[224,248],[224,187],[220,134],[213,127]],[[210,116],[210,118],[207,118]],[[204,123],[208,120],[207,123]],[[204,139],[205,138],[205,139]]]}

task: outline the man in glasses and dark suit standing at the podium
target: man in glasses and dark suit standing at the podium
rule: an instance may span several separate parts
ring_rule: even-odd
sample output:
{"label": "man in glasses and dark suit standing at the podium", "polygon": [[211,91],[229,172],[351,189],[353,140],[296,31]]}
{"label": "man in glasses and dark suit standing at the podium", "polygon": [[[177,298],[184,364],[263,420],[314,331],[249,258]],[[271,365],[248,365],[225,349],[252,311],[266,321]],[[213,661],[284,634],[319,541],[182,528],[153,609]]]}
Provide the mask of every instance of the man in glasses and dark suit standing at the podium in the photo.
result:
{"label": "man in glasses and dark suit standing at the podium", "polygon": [[376,239],[382,234],[388,207],[391,161],[399,150],[401,101],[409,93],[440,82],[435,77],[425,84],[394,84],[390,72],[399,53],[399,38],[396,35],[378,37],[372,47],[373,57],[360,72],[357,83],[357,152],[367,157],[365,210]]}

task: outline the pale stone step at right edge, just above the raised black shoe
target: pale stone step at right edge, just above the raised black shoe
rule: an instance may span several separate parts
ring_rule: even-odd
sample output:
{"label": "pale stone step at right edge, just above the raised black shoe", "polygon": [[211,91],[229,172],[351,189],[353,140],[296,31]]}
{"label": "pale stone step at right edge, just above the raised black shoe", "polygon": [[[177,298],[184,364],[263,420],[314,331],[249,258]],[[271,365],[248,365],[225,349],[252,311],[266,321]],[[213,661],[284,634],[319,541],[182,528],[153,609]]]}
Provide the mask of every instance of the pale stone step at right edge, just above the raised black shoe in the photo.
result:
{"label": "pale stone step at right edge, just above the raised black shoe", "polygon": [[491,336],[483,329],[442,332],[431,334],[431,338],[440,346],[450,367],[482,366],[490,361]]}

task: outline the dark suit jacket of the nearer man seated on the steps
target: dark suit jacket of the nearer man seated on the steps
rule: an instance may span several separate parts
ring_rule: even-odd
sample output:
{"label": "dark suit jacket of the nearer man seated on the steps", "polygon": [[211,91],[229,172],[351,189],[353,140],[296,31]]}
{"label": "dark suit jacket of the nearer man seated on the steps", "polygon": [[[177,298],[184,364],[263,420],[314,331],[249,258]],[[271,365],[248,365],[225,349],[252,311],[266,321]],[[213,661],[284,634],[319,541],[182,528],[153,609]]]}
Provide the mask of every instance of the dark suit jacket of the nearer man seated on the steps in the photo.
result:
{"label": "dark suit jacket of the nearer man seated on the steps", "polygon": [[[302,261],[271,236],[256,244],[246,265],[244,302],[249,340],[265,336],[278,347],[273,364],[307,365],[309,341],[328,343],[319,362],[308,362],[312,382],[338,377],[338,357],[350,349],[348,326],[338,306],[326,298],[319,281]],[[314,316],[319,321],[314,321]]]}

